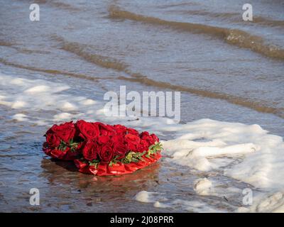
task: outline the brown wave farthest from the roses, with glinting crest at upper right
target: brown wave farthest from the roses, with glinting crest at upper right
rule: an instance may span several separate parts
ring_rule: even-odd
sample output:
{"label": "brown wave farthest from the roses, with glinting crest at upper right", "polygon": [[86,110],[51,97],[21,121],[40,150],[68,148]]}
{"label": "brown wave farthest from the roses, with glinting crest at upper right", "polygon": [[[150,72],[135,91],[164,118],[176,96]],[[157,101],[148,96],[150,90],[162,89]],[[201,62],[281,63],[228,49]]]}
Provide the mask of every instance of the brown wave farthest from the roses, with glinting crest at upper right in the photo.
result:
{"label": "brown wave farthest from the roses, with glinting crest at upper right", "polygon": [[130,11],[119,9],[118,6],[109,7],[110,18],[129,19],[132,21],[139,21],[149,23],[157,26],[167,26],[180,31],[188,31],[190,33],[202,33],[212,35],[214,37],[224,40],[230,45],[236,45],[240,48],[247,48],[254,52],[258,52],[266,57],[274,57],[284,60],[284,50],[273,44],[266,44],[264,40],[257,36],[251,35],[239,29],[221,28],[215,26],[207,26],[200,23],[166,21],[152,16],[143,16]]}

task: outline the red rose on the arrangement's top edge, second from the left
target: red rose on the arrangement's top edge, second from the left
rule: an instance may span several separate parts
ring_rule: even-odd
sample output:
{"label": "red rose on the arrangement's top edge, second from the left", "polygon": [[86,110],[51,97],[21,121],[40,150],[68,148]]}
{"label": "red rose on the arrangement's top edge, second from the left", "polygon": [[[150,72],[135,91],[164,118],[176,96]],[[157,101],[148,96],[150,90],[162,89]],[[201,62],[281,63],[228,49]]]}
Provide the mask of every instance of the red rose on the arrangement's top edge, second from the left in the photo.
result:
{"label": "red rose on the arrangement's top edge, second from the left", "polygon": [[79,136],[85,140],[94,140],[99,137],[99,127],[93,123],[80,120],[77,121],[76,126],[79,129]]}

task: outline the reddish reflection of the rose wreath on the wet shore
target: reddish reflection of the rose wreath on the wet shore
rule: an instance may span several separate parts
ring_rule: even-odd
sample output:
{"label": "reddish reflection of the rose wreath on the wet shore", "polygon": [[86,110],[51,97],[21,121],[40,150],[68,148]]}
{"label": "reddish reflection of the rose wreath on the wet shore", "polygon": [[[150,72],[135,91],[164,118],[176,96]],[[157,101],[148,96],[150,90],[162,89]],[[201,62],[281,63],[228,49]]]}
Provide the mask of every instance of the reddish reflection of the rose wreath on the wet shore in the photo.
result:
{"label": "reddish reflection of the rose wreath on the wet shore", "polygon": [[[60,209],[62,201],[68,198],[68,208],[65,207],[68,211],[81,211],[84,206],[87,206],[89,211],[117,211],[114,208],[116,203],[127,207],[127,203],[133,200],[133,196],[141,189],[158,190],[156,187],[159,185],[160,163],[130,175],[109,177],[84,175],[77,172],[72,162],[43,159],[41,167],[43,172],[40,178],[48,180],[48,194],[56,194],[56,199],[61,198],[53,204],[53,208],[57,206]],[[52,201],[53,196],[49,199],[45,197],[44,200]],[[135,211],[134,207],[132,211]]]}

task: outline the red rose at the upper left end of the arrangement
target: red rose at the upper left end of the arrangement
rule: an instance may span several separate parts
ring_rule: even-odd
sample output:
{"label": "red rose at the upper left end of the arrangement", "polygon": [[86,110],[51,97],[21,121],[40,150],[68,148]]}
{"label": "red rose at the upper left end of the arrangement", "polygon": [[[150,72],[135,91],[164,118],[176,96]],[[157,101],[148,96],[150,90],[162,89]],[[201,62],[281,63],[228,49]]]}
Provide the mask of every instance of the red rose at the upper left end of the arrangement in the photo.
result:
{"label": "red rose at the upper left end of the arrangement", "polygon": [[53,125],[50,130],[48,130],[47,134],[49,134],[50,131],[55,133],[65,143],[69,143],[69,141],[74,138],[76,133],[75,126],[72,121],[62,123],[59,126]]}

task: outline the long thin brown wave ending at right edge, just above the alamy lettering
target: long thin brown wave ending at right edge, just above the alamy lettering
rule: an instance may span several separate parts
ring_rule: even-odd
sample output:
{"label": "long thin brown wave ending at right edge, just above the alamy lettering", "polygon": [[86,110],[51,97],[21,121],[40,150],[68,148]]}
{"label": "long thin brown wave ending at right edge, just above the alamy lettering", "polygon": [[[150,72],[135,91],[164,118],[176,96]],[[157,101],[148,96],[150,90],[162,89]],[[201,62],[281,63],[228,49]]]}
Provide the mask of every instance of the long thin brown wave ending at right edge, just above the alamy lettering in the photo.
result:
{"label": "long thin brown wave ending at right edge, just above the alamy lettering", "polygon": [[[73,54],[82,57],[82,59],[87,62],[91,62],[94,65],[98,65],[99,67],[104,67],[111,70],[116,70],[118,72],[124,72],[124,74],[129,75],[129,77],[119,76],[111,79],[120,79],[128,82],[136,82],[140,84],[144,84],[147,86],[153,86],[161,89],[173,89],[175,91],[187,92],[190,94],[195,94],[198,96],[203,96],[211,99],[222,99],[226,100],[231,104],[236,104],[239,106],[244,106],[249,109],[256,110],[258,112],[267,113],[267,114],[275,114],[280,118],[284,118],[283,109],[278,109],[273,106],[269,106],[269,104],[257,101],[251,101],[244,97],[233,96],[230,94],[224,94],[222,92],[211,92],[208,90],[197,89],[192,87],[184,87],[180,85],[171,84],[169,82],[160,82],[155,81],[146,77],[145,75],[139,72],[132,72],[129,70],[129,65],[119,60],[116,60],[114,57],[108,57],[104,55],[99,55],[94,52],[94,50],[89,50],[89,45],[84,45],[81,43],[69,42],[62,37],[57,35],[53,35],[53,39],[58,40],[60,42],[60,48],[62,50],[72,52]],[[93,48],[92,48],[93,49]]]}

